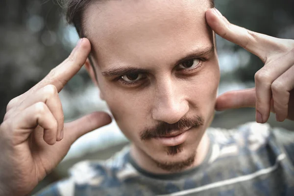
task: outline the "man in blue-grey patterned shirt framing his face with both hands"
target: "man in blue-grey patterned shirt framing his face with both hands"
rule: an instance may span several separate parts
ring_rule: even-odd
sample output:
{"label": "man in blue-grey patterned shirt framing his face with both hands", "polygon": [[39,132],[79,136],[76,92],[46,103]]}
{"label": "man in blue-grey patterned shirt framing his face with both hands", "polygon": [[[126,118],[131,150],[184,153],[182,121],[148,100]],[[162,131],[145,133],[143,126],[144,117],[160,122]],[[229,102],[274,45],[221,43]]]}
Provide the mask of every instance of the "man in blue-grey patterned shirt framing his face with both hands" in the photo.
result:
{"label": "man in blue-grey patterned shirt framing his face with both hands", "polygon": [[[294,40],[231,25],[212,7],[208,0],[70,0],[68,19],[86,38],[9,102],[0,126],[0,195],[28,194],[78,137],[111,122],[96,112],[63,123],[58,92],[85,64],[131,146],[106,163],[76,165],[40,195],[290,196],[294,133],[260,123],[270,111],[279,122],[294,120]],[[265,63],[254,89],[216,98],[212,30]],[[208,128],[215,108],[238,107],[256,107],[257,123]]]}

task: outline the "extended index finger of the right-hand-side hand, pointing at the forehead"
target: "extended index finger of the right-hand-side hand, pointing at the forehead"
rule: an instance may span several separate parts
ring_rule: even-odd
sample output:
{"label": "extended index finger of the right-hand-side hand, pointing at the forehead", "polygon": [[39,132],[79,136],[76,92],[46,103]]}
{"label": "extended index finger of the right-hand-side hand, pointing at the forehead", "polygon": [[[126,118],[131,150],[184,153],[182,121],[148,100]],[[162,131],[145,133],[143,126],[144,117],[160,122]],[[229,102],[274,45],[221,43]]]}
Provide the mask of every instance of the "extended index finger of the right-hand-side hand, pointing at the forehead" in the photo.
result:
{"label": "extended index finger of the right-hand-side hand, pointing at the forehead", "polygon": [[276,38],[233,25],[216,8],[207,10],[205,16],[208,25],[222,38],[257,55],[263,62],[266,61],[267,51],[274,46]]}

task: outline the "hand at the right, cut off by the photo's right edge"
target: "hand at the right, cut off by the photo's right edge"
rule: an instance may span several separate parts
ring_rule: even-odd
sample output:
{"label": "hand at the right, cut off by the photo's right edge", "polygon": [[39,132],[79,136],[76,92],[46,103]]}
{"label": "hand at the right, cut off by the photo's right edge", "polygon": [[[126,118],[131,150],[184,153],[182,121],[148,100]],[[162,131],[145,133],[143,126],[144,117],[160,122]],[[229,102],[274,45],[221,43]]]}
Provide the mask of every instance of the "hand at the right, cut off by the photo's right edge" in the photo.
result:
{"label": "hand at the right, cut off by the photo's right edge", "polygon": [[264,67],[255,74],[255,88],[231,91],[217,98],[216,109],[256,107],[256,122],[266,123],[270,111],[276,120],[294,120],[294,40],[278,39],[230,24],[213,8],[208,25],[221,37],[257,55]]}

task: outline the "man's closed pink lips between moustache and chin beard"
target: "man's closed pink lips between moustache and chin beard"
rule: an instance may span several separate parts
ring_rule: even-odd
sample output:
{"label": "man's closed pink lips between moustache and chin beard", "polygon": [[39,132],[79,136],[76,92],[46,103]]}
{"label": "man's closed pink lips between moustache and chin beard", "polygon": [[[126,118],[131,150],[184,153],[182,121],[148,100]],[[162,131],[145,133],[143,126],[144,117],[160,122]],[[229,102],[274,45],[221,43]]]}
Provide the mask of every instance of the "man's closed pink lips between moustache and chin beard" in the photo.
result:
{"label": "man's closed pink lips between moustache and chin beard", "polygon": [[188,138],[188,132],[190,131],[191,127],[186,130],[181,131],[173,131],[170,134],[167,134],[165,136],[160,136],[154,138],[158,142],[160,142],[162,145],[167,147],[173,147],[180,145],[184,143]]}

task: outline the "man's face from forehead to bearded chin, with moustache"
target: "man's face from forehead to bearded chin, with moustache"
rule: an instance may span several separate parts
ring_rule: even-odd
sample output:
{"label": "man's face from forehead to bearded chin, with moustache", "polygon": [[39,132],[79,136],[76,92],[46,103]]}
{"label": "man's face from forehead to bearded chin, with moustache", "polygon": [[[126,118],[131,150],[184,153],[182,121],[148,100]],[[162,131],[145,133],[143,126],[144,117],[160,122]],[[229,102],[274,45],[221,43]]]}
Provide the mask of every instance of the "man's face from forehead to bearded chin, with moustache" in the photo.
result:
{"label": "man's face from forehead to bearded chin, with moustache", "polygon": [[220,72],[209,8],[107,0],[85,12],[101,96],[135,149],[164,170],[193,163],[213,118]]}

